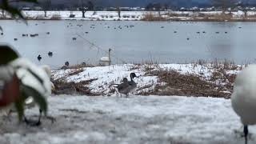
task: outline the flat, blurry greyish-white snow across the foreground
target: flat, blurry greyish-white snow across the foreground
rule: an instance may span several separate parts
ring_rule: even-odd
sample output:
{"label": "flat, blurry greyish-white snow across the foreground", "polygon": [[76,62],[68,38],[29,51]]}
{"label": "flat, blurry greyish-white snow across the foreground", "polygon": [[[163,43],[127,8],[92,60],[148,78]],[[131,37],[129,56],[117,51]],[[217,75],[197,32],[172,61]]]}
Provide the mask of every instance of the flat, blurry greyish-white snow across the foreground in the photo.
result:
{"label": "flat, blurry greyish-white snow across the foreground", "polygon": [[[54,95],[48,99],[51,123],[18,125],[15,114],[1,118],[1,144],[71,143],[244,143],[242,124],[224,98],[177,96],[87,97]],[[26,110],[37,118],[38,108]],[[256,127],[250,126],[250,143]]]}

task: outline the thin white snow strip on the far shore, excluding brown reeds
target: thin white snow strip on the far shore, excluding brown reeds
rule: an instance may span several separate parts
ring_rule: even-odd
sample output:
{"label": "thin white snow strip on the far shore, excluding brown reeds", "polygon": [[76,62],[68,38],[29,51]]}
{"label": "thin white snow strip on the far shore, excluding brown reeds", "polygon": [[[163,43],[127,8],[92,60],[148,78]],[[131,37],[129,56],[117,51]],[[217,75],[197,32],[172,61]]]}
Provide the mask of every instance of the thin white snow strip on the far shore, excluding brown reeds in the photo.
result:
{"label": "thin white snow strip on the far shore, excluding brown reeds", "polygon": [[[159,15],[158,11],[122,11],[121,18],[118,17],[117,11],[86,11],[85,18],[82,18],[82,11],[47,11],[46,18],[42,10],[23,10],[25,17],[34,19],[80,19],[80,20],[141,20],[146,14]],[[229,14],[230,12],[226,12]],[[70,18],[70,14],[74,14],[74,18]],[[222,11],[161,11],[163,18],[179,18],[181,20],[189,20],[190,18],[200,17],[200,14],[219,15]],[[234,18],[243,18],[245,13],[241,10],[231,12]],[[186,15],[186,16],[184,16]],[[247,16],[255,16],[255,11],[248,11]],[[0,14],[2,17],[2,14]],[[10,17],[10,16],[7,16]],[[202,17],[203,18],[203,17]]]}

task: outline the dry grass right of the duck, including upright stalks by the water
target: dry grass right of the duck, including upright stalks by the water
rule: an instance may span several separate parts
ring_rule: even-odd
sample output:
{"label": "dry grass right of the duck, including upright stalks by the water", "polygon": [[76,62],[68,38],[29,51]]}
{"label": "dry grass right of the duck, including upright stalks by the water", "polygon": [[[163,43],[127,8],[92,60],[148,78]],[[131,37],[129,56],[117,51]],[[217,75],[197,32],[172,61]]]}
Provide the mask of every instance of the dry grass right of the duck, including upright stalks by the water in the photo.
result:
{"label": "dry grass right of the duck, including upright stalks by the water", "polygon": [[[137,65],[138,67],[138,65]],[[157,64],[143,65],[142,70],[146,75],[157,76],[158,83],[151,91],[142,91],[139,94],[156,95],[185,95],[195,97],[215,97],[230,98],[233,92],[233,83],[236,74],[230,74],[230,70],[242,70],[242,66],[235,65],[234,62],[219,62],[215,59],[213,62],[207,62],[199,59],[192,64],[190,72],[181,74],[179,70],[170,70],[159,68]],[[199,72],[196,69],[201,67]],[[205,71],[205,70],[209,71]],[[194,71],[194,72],[193,72]],[[206,77],[205,72],[210,76]],[[164,85],[162,85],[164,83]]]}

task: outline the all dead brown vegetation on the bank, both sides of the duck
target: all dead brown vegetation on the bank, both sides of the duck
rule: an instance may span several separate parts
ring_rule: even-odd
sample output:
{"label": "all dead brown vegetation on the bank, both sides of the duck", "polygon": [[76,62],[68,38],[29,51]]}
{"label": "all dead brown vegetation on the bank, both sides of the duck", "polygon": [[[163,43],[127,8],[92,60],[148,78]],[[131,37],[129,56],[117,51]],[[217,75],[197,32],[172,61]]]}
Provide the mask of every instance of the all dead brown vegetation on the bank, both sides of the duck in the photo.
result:
{"label": "all dead brown vegetation on the bank, both sides of the duck", "polygon": [[[242,70],[243,66],[234,64],[234,62],[224,61],[206,62],[198,60],[190,66],[190,73],[182,73],[181,70],[162,68],[155,62],[143,62],[133,64],[130,70],[139,70],[144,72],[144,76],[155,76],[157,82],[147,85],[138,86],[134,94],[140,95],[180,95],[194,97],[215,97],[230,98],[233,92],[233,83],[236,73],[234,71]],[[72,66],[74,69],[66,75],[72,76],[86,70],[85,67],[94,67],[93,65]],[[202,70],[198,70],[198,68]],[[66,79],[58,78],[54,80],[56,90],[54,94],[86,94],[86,95],[111,95],[115,93],[110,86],[113,82],[102,83],[102,87],[109,90],[102,90],[97,93],[92,92],[89,88],[90,82],[97,78],[92,78],[82,82],[66,82]],[[105,94],[107,92],[107,94]]]}

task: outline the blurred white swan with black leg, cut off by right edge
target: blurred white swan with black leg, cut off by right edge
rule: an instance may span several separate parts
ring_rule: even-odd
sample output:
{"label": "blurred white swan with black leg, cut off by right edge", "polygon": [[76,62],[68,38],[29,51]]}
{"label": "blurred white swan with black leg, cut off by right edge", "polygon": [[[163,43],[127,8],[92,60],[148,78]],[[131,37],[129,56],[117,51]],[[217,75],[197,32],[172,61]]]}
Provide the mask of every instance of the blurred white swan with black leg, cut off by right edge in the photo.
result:
{"label": "blurred white swan with black leg, cut off by right edge", "polygon": [[256,65],[247,66],[238,73],[231,102],[233,110],[241,118],[247,144],[248,125],[256,124]]}

